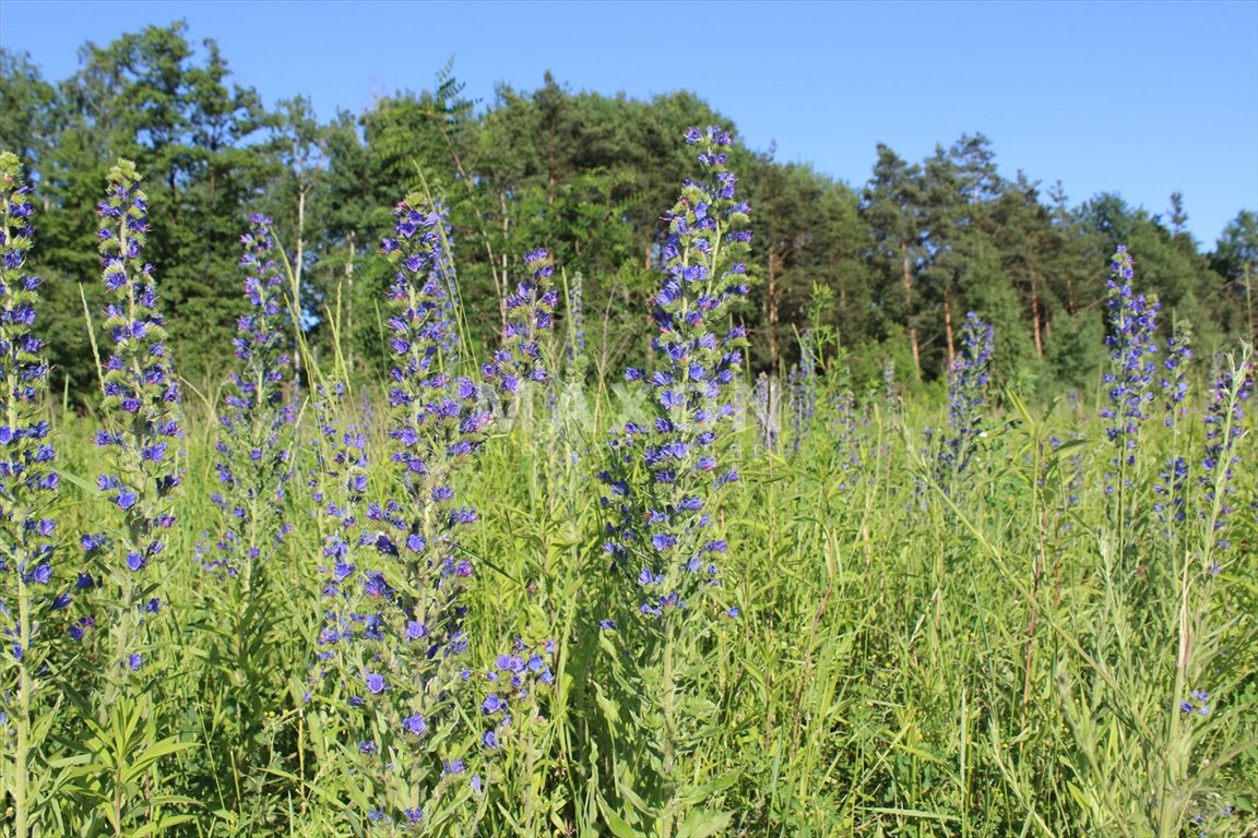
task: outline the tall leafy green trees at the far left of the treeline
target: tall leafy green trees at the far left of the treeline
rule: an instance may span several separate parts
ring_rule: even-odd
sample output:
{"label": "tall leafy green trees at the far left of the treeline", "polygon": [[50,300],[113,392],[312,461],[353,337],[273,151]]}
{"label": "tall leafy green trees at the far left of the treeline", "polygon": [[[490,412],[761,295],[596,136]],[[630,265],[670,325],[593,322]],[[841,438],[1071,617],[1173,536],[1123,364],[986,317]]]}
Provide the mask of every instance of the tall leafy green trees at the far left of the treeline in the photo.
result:
{"label": "tall leafy green trees at the far left of the treeline", "polygon": [[[96,269],[96,226],[84,207],[96,205],[98,183],[117,157],[136,161],[150,176],[148,258],[162,278],[176,354],[187,357],[185,374],[199,381],[229,357],[224,347],[237,314],[230,254],[243,210],[281,161],[265,142],[274,119],[257,93],[229,85],[213,40],[203,49],[198,55],[182,24],[150,26],[106,48],[89,44],[79,72],[47,102],[45,148],[36,150],[33,165],[53,245],[36,255],[36,265],[50,286],[45,334],[55,347],[53,362],[62,382],[79,393],[93,377],[77,289]],[[47,101],[25,65],[6,58],[3,69],[18,102]],[[20,132],[3,127],[0,144],[29,147]],[[88,297],[93,313],[101,300]]]}

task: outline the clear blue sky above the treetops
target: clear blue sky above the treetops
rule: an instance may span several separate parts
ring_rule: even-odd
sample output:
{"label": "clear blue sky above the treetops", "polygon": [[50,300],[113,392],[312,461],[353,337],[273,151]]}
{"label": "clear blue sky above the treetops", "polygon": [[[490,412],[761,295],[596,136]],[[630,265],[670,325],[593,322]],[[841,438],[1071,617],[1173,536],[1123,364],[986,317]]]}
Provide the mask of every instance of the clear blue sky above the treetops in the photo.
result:
{"label": "clear blue sky above the treetops", "polygon": [[455,57],[465,94],[689,89],[757,150],[859,186],[874,144],[920,161],[964,132],[1006,177],[1072,204],[1102,191],[1150,212],[1184,193],[1206,248],[1258,209],[1258,0],[1209,3],[127,3],[0,0],[0,44],[49,80],[77,49],[146,24],[218,40],[268,104],[322,117],[433,85]]}

